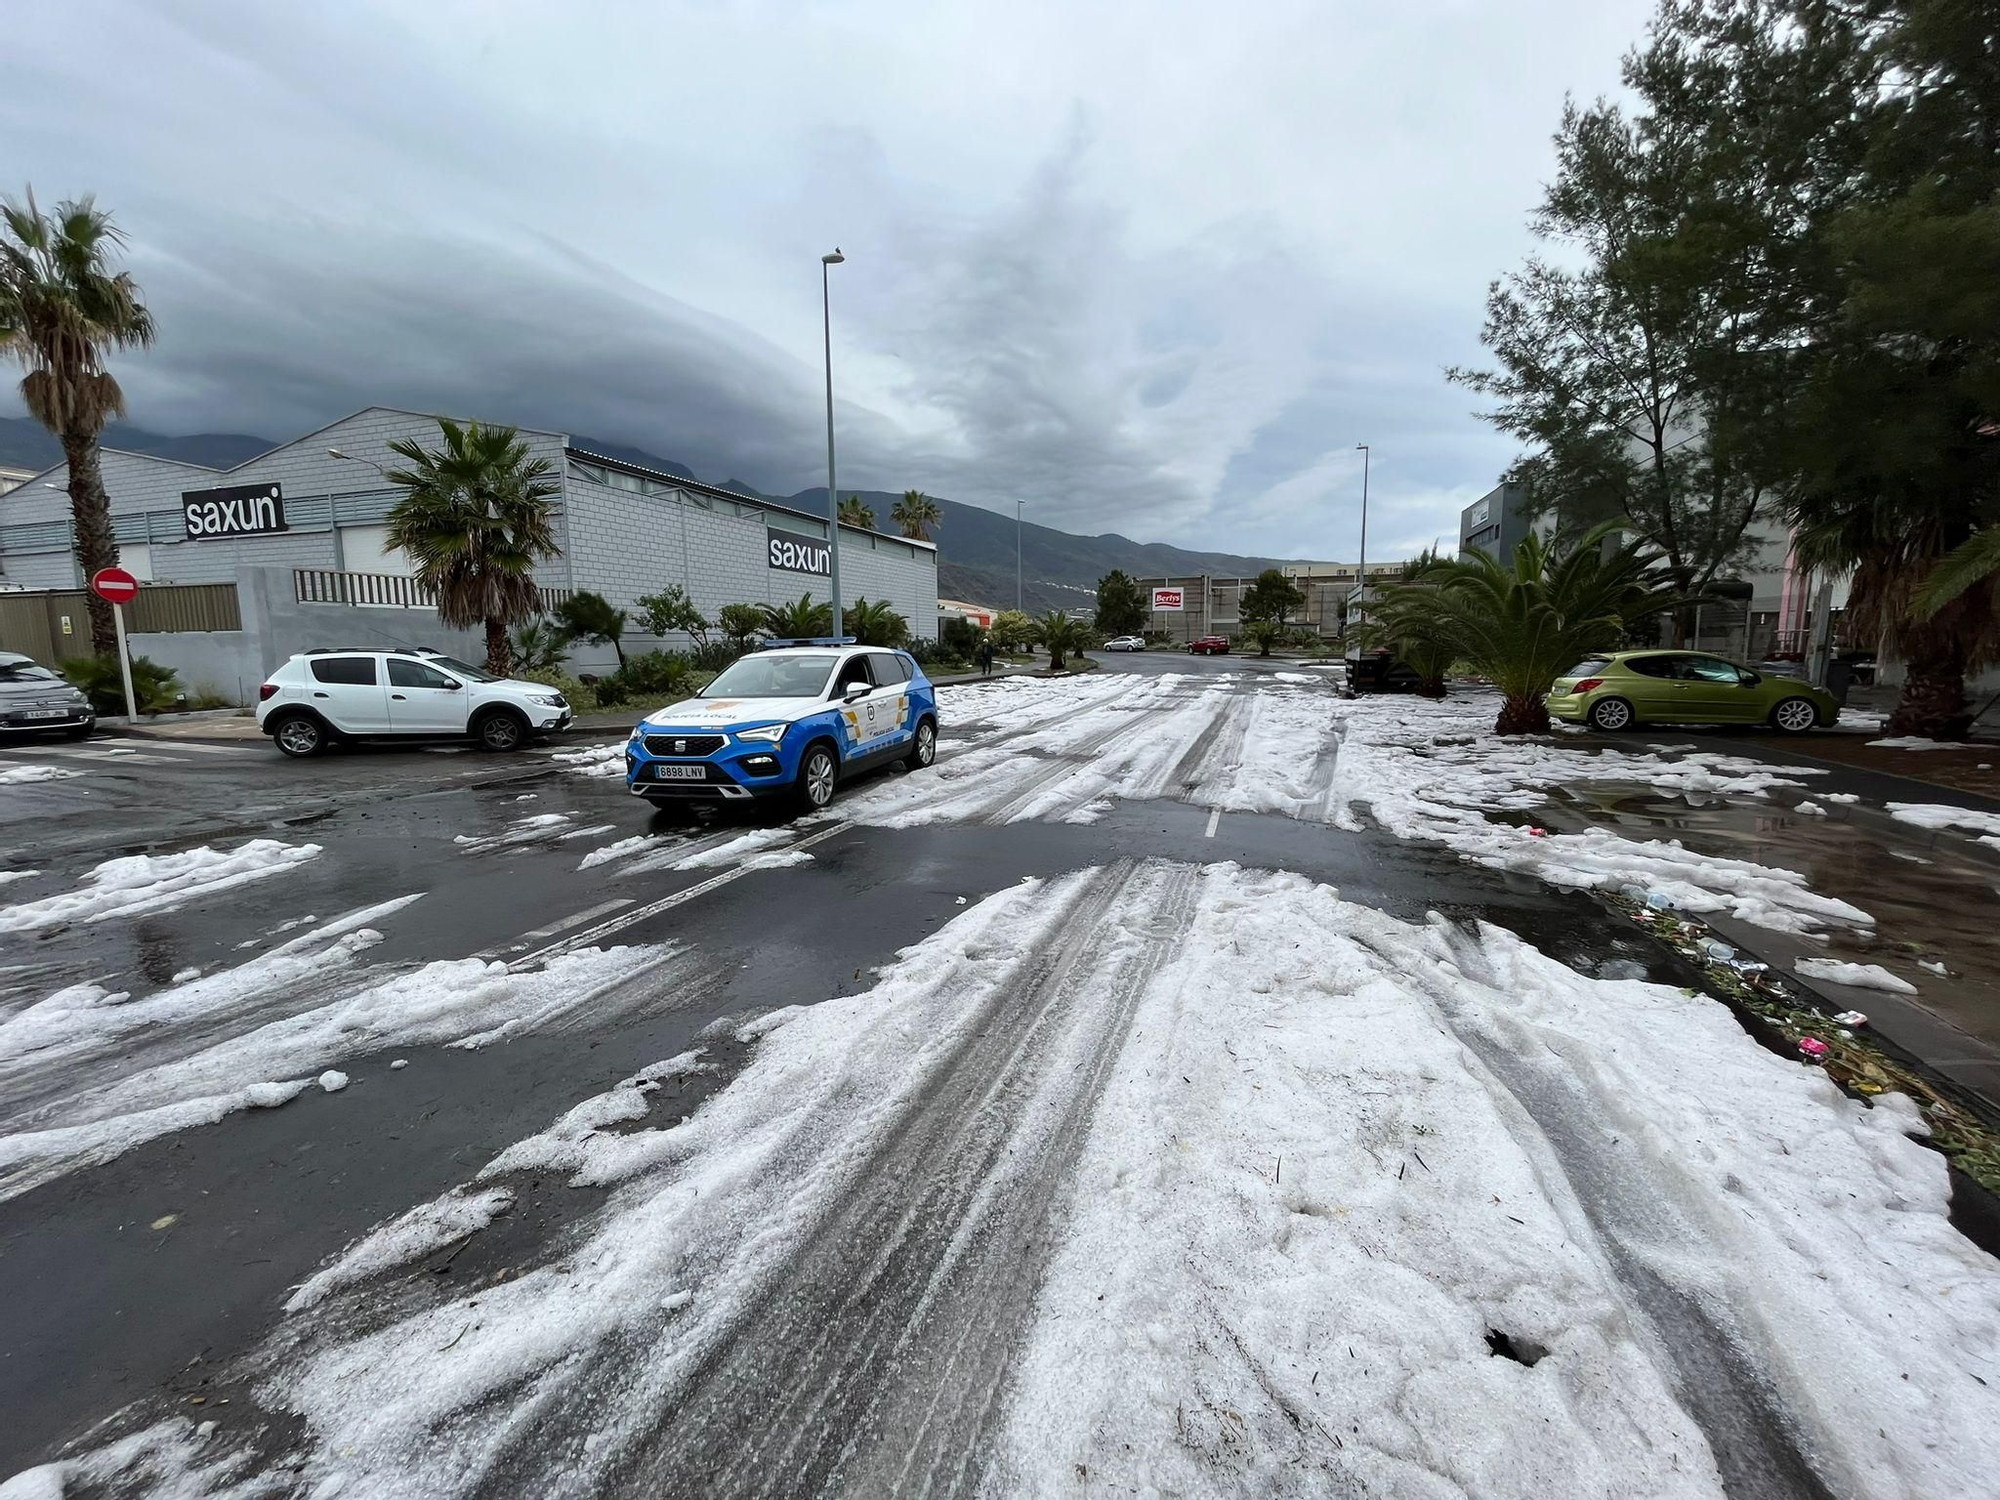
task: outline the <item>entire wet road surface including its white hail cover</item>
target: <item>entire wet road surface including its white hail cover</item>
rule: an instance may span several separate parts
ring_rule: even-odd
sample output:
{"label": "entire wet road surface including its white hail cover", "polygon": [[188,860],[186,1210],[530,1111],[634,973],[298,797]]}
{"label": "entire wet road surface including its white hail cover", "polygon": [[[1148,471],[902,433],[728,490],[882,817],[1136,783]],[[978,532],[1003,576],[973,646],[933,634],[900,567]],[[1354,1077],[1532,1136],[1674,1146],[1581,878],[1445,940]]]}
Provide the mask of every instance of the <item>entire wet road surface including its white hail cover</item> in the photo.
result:
{"label": "entire wet road surface including its white hail cover", "polygon": [[1526,826],[1800,780],[1232,660],[944,712],[694,826],[618,746],[0,752],[0,1496],[1986,1482],[1910,1110],[1584,890],[1870,914]]}

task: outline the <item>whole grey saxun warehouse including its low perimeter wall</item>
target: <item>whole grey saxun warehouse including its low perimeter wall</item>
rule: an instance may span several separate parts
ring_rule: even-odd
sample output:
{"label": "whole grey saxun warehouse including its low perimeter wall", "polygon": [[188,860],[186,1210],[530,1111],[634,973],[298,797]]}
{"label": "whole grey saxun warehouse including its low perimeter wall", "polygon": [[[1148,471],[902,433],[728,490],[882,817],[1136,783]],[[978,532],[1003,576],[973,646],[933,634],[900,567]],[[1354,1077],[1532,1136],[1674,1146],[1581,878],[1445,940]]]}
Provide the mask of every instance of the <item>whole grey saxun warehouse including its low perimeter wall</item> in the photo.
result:
{"label": "whole grey saxun warehouse including its low perimeter wall", "polygon": [[[104,450],[118,560],[142,582],[202,586],[188,608],[160,614],[180,590],[144,590],[132,610],[134,648],[172,666],[190,686],[254,696],[286,656],[308,646],[408,644],[476,654],[474,632],[438,624],[428,592],[388,544],[400,492],[382,470],[400,438],[440,442],[424,412],[370,406],[228,470]],[[714,618],[724,604],[828,598],[828,518],[758,496],[656,472],[590,452],[568,434],[522,428],[560,486],[560,554],[536,570],[544,600],[602,594],[634,608],[642,594],[680,584]],[[8,650],[42,660],[88,652],[84,584],[62,464],[0,494],[0,630]],[[912,636],[938,634],[938,552],[930,542],[840,528],[844,602],[886,600]],[[20,590],[44,594],[28,608]],[[156,616],[148,618],[148,594]],[[36,624],[42,620],[44,624]],[[162,626],[162,628],[150,628]],[[626,648],[656,642],[634,626]],[[574,670],[604,670],[608,646],[578,646]]]}

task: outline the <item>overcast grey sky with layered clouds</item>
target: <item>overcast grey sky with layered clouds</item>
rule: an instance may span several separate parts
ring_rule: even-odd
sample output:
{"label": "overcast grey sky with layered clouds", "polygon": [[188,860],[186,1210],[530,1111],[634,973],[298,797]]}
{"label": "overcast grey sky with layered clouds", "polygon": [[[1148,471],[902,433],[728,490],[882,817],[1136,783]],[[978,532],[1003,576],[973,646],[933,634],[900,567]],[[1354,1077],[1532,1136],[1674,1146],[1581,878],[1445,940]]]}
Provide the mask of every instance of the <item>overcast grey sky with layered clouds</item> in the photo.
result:
{"label": "overcast grey sky with layered clouds", "polygon": [[132,238],[140,426],[382,402],[824,484],[838,244],[842,490],[1352,558],[1368,442],[1390,556],[1512,456],[1442,366],[1650,8],[64,0],[8,14],[0,138]]}

